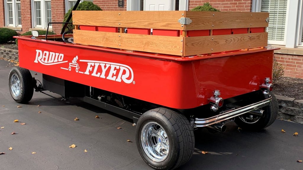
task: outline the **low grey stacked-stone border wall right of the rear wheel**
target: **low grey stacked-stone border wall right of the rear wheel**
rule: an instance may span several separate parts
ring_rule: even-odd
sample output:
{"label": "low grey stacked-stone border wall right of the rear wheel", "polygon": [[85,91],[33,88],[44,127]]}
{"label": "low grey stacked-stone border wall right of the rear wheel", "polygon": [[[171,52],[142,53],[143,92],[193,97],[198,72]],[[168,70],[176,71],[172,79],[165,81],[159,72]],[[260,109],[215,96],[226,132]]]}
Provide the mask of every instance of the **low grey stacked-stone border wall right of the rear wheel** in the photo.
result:
{"label": "low grey stacked-stone border wall right of the rear wheel", "polygon": [[303,124],[303,100],[275,95],[279,102],[277,119],[291,120]]}

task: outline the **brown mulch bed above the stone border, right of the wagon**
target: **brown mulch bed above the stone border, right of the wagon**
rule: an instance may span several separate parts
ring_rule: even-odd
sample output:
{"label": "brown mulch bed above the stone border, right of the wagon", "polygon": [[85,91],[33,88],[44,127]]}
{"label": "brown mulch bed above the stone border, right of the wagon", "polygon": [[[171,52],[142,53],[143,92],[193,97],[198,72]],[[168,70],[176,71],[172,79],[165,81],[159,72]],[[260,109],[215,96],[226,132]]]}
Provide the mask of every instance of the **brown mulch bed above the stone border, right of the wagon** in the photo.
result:
{"label": "brown mulch bed above the stone border, right of the wagon", "polygon": [[282,77],[274,83],[273,92],[280,96],[303,99],[303,79]]}

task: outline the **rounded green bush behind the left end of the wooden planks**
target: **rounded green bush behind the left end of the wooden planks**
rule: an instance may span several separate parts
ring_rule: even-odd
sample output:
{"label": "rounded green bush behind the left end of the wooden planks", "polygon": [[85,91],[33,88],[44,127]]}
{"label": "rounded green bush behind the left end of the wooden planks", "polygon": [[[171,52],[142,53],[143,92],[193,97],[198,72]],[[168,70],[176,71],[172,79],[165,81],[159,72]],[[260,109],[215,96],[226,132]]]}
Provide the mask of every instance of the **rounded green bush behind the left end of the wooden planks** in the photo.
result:
{"label": "rounded green bush behind the left end of the wooden planks", "polygon": [[[102,11],[102,9],[98,6],[93,4],[90,1],[83,1],[81,3],[79,3],[76,11]],[[69,22],[67,21],[68,15],[72,12],[72,9],[68,10],[67,13],[64,15],[64,20],[63,22]],[[71,19],[72,21],[73,19]],[[64,24],[63,24],[64,25]],[[62,26],[63,26],[62,25]],[[74,25],[72,24],[68,24],[67,27],[65,28],[65,31],[72,31],[75,28]]]}

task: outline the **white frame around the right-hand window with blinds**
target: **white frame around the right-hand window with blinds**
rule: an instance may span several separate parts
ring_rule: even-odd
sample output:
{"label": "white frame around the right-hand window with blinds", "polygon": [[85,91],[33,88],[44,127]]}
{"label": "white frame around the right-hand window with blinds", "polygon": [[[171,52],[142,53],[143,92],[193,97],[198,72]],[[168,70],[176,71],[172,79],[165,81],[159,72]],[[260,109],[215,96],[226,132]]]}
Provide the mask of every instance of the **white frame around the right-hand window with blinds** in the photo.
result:
{"label": "white frame around the right-hand window with blinds", "polygon": [[[261,12],[261,1],[262,0],[252,0],[252,12]],[[287,0],[287,7],[286,7],[286,18],[285,18],[285,30],[284,30],[284,40],[277,41],[277,40],[268,40],[268,44],[272,45],[285,45],[286,44],[286,33],[287,33],[287,24],[288,24],[288,12],[289,12],[289,1]],[[270,18],[269,18],[270,20]]]}

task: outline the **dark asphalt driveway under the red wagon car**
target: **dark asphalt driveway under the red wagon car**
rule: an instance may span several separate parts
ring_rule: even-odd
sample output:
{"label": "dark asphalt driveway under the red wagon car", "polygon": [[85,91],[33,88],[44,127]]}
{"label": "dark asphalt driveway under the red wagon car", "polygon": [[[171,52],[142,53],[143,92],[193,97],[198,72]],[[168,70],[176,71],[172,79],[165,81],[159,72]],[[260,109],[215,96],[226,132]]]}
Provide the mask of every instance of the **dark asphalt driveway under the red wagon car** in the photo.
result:
{"label": "dark asphalt driveway under the red wagon car", "polygon": [[[6,153],[0,155],[1,170],[151,169],[138,153],[130,119],[77,99],[58,101],[36,92],[28,104],[16,103],[8,90],[12,65],[0,60],[0,152]],[[225,133],[196,130],[195,140],[194,155],[179,170],[303,169],[297,162],[303,160],[301,124],[276,120],[261,132],[239,132],[231,124]],[[72,144],[76,147],[69,148]]]}

